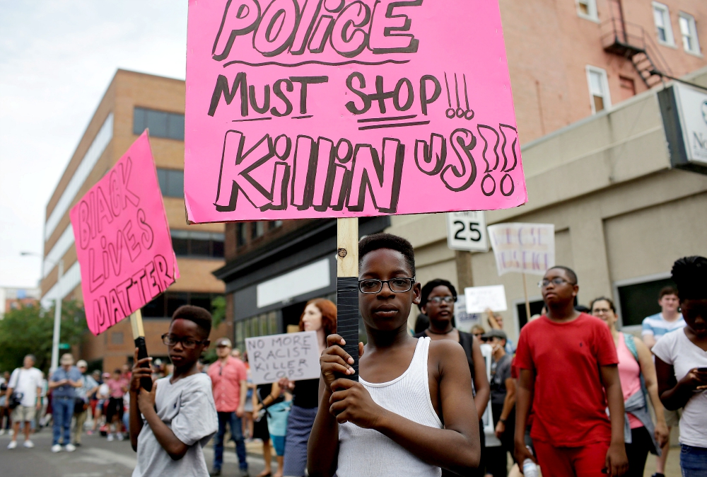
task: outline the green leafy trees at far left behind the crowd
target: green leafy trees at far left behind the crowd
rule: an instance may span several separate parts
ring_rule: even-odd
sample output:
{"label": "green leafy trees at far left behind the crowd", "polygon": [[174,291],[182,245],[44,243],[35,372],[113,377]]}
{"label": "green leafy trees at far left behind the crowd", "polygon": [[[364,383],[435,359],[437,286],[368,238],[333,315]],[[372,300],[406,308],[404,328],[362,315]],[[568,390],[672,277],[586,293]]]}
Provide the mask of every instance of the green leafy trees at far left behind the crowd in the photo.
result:
{"label": "green leafy trees at far left behind the crowd", "polygon": [[[62,303],[62,331],[59,343],[70,346],[81,343],[88,330],[83,305],[76,300]],[[42,309],[39,304],[21,306],[0,320],[0,369],[22,366],[25,355],[35,355],[35,366],[43,372],[52,364],[54,308]]]}

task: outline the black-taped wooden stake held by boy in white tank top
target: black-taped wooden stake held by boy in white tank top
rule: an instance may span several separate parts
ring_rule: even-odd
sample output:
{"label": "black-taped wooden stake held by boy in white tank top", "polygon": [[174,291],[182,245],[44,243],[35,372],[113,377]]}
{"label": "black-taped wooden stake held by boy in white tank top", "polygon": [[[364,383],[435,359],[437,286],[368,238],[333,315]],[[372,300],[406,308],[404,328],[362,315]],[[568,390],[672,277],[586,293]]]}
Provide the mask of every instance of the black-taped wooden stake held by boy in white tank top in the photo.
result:
{"label": "black-taped wooden stake held by boy in white tank top", "polygon": [[354,357],[358,381],[358,218],[337,219],[337,333],[344,338],[346,350]]}

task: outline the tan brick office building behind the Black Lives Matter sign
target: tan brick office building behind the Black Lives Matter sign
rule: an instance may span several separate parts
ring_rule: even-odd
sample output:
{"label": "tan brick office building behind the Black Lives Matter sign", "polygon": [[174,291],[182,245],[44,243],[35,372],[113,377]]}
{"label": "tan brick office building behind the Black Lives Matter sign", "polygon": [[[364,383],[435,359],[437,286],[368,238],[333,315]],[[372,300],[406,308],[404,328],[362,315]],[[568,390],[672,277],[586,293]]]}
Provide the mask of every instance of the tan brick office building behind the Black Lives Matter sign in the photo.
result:
{"label": "tan brick office building behind the Black Lives Matter sign", "polygon": [[[42,304],[81,301],[81,272],[76,261],[69,210],[124,154],[145,128],[163,193],[181,278],[144,307],[148,350],[164,356],[160,335],[168,329],[168,316],[181,304],[211,307],[223,294],[223,282],[211,274],[223,265],[223,224],[188,225],[184,205],[184,81],[118,70],[108,86],[86,132],[66,166],[47,204]],[[59,279],[60,263],[63,274]],[[214,335],[228,334],[226,325]],[[103,362],[112,371],[132,359],[134,350],[129,321],[93,337],[88,333],[81,357]]]}

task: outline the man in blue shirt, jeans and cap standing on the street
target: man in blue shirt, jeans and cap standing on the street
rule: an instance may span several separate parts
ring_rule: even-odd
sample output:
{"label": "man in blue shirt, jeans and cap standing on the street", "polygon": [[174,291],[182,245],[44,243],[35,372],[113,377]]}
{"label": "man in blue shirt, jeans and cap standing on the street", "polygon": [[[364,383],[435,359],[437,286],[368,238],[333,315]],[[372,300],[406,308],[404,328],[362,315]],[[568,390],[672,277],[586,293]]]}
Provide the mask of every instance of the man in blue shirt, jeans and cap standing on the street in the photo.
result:
{"label": "man in blue shirt, jeans and cap standing on the street", "polygon": [[[62,355],[58,367],[49,379],[49,389],[52,390],[52,418],[54,425],[52,431],[52,452],[61,452],[62,444],[59,438],[64,437],[64,449],[67,452],[74,452],[76,447],[71,444],[71,416],[74,415],[74,399],[76,398],[76,388],[83,384],[81,371],[74,366],[74,357],[71,353]],[[62,430],[63,428],[63,430]]]}

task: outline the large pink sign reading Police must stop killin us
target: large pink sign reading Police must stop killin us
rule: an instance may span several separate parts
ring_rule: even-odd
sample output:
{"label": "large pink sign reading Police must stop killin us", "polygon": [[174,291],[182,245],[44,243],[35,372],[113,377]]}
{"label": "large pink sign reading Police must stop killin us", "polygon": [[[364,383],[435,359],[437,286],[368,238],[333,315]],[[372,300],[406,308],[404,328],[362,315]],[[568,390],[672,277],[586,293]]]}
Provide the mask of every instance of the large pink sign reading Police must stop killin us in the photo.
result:
{"label": "large pink sign reading Police must stop killin us", "polygon": [[496,0],[189,0],[192,222],[527,201]]}

